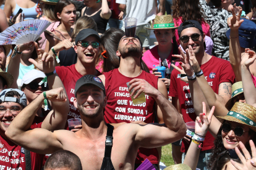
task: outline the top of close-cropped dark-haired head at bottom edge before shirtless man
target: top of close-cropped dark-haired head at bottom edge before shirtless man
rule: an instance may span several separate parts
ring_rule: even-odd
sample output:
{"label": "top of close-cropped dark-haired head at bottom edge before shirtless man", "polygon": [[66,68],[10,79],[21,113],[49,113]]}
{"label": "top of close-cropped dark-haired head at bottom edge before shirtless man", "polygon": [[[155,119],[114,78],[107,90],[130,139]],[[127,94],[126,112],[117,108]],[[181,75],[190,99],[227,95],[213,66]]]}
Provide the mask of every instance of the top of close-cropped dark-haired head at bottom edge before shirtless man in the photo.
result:
{"label": "top of close-cropped dark-haired head at bottom edge before shirtless man", "polygon": [[72,170],[82,170],[82,163],[79,156],[68,150],[54,152],[45,163],[45,170],[55,168],[70,168]]}

